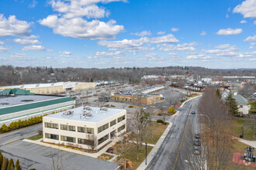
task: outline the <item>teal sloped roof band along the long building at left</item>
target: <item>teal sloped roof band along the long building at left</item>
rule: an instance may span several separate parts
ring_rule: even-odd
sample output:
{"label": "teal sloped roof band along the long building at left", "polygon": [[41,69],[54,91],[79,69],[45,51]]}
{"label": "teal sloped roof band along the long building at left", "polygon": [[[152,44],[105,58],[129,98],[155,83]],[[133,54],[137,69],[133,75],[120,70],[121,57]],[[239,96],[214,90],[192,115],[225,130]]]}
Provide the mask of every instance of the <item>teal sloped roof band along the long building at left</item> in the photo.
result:
{"label": "teal sloped roof band along the long building at left", "polygon": [[[72,99],[71,97],[57,97],[54,99],[48,99],[48,100],[41,100],[41,101],[37,101],[37,102],[31,102],[29,104],[18,104],[18,105],[12,105],[10,107],[8,107],[8,105],[4,105],[2,108],[0,108],[0,115],[3,114],[12,114],[15,112],[19,112],[19,111],[24,111],[24,110],[30,110],[30,109],[35,109],[38,107],[47,107],[50,105],[54,105],[54,104],[61,104],[67,101],[72,101],[74,99]],[[4,100],[5,102],[5,100]]]}

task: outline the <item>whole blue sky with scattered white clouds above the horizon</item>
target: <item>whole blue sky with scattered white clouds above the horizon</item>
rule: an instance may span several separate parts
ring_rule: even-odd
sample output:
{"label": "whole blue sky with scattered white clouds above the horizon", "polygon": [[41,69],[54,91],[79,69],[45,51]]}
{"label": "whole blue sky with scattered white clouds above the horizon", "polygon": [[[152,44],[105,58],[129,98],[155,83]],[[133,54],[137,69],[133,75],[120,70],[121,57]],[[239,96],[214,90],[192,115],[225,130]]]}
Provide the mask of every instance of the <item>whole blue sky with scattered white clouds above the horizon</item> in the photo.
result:
{"label": "whole blue sky with scattered white clouds above the horizon", "polygon": [[256,0],[1,0],[0,65],[256,68]]}

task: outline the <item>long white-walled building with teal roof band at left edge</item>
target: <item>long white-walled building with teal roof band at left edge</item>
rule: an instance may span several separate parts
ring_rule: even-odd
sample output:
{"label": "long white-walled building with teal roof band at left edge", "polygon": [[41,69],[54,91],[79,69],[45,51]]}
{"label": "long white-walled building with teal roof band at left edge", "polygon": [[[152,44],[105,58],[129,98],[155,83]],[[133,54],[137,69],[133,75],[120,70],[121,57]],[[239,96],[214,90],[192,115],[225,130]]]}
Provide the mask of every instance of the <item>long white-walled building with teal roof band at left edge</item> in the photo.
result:
{"label": "long white-walled building with teal roof band at left edge", "polygon": [[71,109],[75,100],[71,97],[47,95],[0,95],[0,127],[12,121],[26,120],[29,117],[50,114],[59,110]]}

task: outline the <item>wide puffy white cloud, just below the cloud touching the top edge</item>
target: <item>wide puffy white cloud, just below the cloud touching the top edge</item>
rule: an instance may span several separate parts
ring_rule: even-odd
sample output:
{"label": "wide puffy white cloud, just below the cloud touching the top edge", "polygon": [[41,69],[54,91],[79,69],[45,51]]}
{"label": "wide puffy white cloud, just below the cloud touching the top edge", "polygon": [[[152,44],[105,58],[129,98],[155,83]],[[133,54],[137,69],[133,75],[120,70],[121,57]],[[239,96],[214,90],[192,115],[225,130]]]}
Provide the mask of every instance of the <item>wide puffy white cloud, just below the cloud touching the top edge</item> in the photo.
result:
{"label": "wide puffy white cloud, just below the cloud touching the top edge", "polygon": [[54,29],[54,33],[78,39],[114,39],[124,30],[123,26],[116,25],[115,20],[88,22],[82,18],[65,19],[57,15],[47,16],[46,19],[40,20],[40,24]]}

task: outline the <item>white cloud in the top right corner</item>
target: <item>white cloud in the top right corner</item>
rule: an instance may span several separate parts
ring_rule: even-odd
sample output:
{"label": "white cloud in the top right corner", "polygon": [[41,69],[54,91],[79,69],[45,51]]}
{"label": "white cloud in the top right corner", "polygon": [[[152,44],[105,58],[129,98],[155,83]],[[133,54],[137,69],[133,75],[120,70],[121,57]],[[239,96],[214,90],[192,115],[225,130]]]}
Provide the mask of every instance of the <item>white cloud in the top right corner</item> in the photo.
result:
{"label": "white cloud in the top right corner", "polygon": [[256,18],[256,2],[255,0],[246,0],[242,4],[237,5],[233,12],[241,13],[244,18]]}

